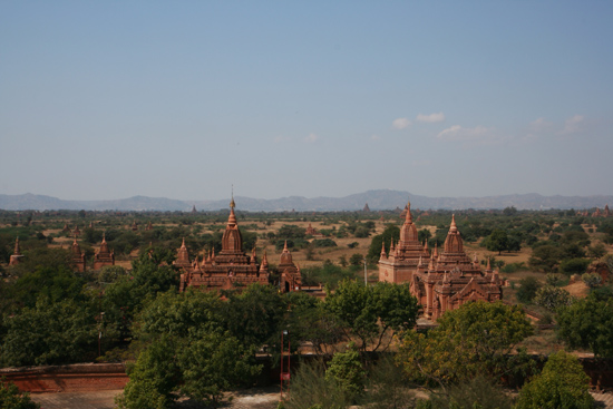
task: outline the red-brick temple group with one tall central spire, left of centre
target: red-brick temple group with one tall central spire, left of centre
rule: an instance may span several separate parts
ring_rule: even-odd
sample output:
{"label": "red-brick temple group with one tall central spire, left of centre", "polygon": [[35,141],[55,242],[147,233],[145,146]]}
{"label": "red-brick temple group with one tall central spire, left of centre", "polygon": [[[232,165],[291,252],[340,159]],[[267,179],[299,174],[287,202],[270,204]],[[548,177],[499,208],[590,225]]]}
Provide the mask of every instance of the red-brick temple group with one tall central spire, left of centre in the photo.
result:
{"label": "red-brick temple group with one tall central spire, left of centre", "polygon": [[[204,291],[240,289],[253,283],[267,284],[270,280],[269,262],[264,253],[262,262],[257,263],[255,249],[252,254],[243,252],[243,238],[234,214],[234,199],[230,203],[230,216],[222,236],[222,251],[204,252],[202,261],[198,256],[192,261],[183,242],[177,252],[174,265],[181,270],[179,291],[193,286]],[[288,245],[281,253],[279,263],[280,288],[282,291],[299,291],[301,289],[300,269],[293,263]]]}

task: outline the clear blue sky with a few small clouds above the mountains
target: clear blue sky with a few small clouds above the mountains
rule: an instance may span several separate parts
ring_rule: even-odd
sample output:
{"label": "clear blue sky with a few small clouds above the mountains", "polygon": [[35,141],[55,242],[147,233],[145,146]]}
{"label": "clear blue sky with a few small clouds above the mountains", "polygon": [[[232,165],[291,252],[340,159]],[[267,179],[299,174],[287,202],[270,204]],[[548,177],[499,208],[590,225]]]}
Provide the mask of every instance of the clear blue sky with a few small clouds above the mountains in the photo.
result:
{"label": "clear blue sky with a few small clouds above the mountains", "polygon": [[2,1],[0,193],[611,195],[612,1]]}

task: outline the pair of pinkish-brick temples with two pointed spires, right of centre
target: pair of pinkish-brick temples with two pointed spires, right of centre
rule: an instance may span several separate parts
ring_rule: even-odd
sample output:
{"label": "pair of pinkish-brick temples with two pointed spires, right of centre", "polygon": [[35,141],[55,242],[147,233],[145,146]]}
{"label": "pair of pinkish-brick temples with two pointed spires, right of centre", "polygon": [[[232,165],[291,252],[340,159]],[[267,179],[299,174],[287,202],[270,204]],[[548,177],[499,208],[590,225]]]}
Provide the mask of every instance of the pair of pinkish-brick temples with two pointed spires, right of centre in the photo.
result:
{"label": "pair of pinkish-brick temples with two pointed spires, right of centre", "polygon": [[483,271],[476,256],[470,260],[466,255],[455,217],[442,251],[439,253],[436,246],[430,252],[427,242],[421,244],[418,240],[410,203],[398,243],[392,241],[389,254],[385,245],[381,249],[379,281],[409,283],[424,315],[432,320],[468,301],[493,302],[503,298],[498,272],[492,270],[489,262]]}

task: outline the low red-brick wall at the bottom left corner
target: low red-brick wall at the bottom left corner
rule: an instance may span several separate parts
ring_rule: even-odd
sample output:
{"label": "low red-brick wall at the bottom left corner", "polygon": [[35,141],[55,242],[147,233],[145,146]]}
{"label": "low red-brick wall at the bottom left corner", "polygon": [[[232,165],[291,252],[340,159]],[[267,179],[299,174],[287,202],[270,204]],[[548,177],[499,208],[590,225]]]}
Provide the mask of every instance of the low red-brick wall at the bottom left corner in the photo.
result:
{"label": "low red-brick wall at the bottom left corner", "polygon": [[0,369],[0,377],[28,392],[80,392],[124,389],[128,382],[123,363]]}

